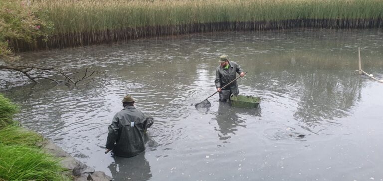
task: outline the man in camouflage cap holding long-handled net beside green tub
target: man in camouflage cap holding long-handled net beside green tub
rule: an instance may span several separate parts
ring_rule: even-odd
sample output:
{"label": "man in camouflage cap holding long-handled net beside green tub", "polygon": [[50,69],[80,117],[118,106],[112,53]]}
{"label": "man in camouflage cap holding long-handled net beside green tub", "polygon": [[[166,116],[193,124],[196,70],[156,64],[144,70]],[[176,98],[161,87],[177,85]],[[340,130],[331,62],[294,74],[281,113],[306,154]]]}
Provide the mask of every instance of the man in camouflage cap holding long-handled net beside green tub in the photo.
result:
{"label": "man in camouflage cap holding long-handled net beside green tub", "polygon": [[236,78],[236,73],[243,77],[245,75],[245,72],[242,70],[239,64],[233,61],[229,61],[227,55],[220,56],[218,62],[220,63],[220,65],[215,71],[214,83],[217,88],[217,91],[219,92],[219,101],[226,102],[230,100],[231,94],[239,94],[237,81],[232,82],[224,89],[221,89],[221,87],[234,80]]}

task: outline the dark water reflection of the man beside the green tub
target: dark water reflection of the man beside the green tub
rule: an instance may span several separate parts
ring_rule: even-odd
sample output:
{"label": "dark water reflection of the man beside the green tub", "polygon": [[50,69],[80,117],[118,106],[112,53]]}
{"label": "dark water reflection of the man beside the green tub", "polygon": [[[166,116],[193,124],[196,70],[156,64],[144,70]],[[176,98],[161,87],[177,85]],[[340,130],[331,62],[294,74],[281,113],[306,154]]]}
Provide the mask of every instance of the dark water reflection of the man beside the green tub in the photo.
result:
{"label": "dark water reflection of the man beside the green tub", "polygon": [[235,132],[240,128],[246,128],[245,120],[247,118],[240,115],[261,116],[261,108],[235,108],[229,103],[219,101],[218,113],[215,115],[218,128],[214,129],[220,132],[218,134],[219,140],[230,139],[231,135],[235,135]]}

